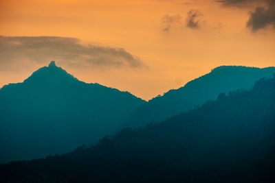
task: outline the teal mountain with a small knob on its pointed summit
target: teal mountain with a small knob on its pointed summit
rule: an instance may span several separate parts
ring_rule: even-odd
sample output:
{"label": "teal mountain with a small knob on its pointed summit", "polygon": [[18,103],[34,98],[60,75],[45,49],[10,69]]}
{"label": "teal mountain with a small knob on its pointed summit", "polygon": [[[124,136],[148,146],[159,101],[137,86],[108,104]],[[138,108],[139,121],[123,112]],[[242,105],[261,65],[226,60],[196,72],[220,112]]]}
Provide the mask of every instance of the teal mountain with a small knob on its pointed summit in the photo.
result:
{"label": "teal mountain with a small knob on its pointed summit", "polygon": [[50,62],[0,90],[0,163],[95,143],[142,103],[128,92],[80,82]]}

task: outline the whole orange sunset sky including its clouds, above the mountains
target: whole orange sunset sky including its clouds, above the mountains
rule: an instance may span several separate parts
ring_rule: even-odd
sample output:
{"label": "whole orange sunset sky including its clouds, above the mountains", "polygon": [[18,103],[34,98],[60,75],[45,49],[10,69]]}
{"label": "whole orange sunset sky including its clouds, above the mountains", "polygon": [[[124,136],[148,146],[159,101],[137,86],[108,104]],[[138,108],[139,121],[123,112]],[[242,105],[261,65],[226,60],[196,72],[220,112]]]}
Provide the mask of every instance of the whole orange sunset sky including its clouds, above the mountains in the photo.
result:
{"label": "whole orange sunset sky including its clouds, above the mountains", "polygon": [[217,66],[275,66],[274,2],[0,0],[0,87],[55,60],[148,100]]}

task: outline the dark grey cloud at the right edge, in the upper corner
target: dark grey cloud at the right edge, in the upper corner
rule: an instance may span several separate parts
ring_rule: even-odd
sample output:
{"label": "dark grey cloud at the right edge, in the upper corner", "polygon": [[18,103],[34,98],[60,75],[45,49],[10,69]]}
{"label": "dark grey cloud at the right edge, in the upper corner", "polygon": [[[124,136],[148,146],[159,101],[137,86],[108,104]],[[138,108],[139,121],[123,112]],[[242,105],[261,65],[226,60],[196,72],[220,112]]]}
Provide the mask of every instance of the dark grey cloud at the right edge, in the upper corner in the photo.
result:
{"label": "dark grey cloud at the right edge, in the upper corner", "polygon": [[267,26],[275,28],[275,1],[268,1],[268,7],[257,7],[254,12],[250,12],[250,19],[247,26],[253,32],[263,29]]}

